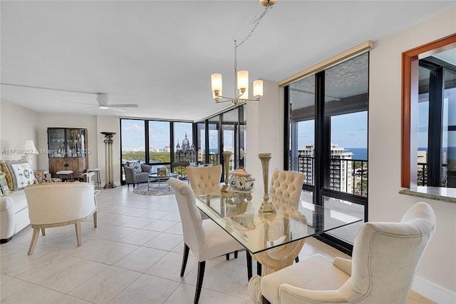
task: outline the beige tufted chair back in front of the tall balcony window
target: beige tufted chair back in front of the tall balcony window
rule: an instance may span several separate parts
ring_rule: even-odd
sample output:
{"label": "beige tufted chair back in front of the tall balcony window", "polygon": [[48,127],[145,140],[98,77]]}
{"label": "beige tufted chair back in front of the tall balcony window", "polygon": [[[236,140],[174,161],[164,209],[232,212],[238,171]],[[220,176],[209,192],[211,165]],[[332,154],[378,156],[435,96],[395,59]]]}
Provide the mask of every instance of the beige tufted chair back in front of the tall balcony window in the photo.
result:
{"label": "beige tufted chair back in front of the tall balcony window", "polygon": [[297,207],[299,198],[301,197],[303,181],[303,173],[275,170],[274,173],[272,173],[269,194],[271,196],[278,195],[290,198],[290,200],[286,201],[296,204],[294,207]]}

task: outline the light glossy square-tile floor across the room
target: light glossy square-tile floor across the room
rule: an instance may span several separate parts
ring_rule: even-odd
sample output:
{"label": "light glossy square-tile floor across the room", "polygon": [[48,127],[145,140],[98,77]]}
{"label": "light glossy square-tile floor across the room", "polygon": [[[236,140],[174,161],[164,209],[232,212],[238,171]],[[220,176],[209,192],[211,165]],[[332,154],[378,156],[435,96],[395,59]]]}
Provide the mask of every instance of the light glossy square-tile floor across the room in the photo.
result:
{"label": "light glossy square-tile floor across the room", "polygon": [[[182,226],[175,196],[142,196],[118,186],[98,194],[98,228],[46,229],[27,255],[31,228],[0,245],[0,302],[7,303],[193,303],[197,261],[180,277]],[[343,253],[309,239],[300,259]],[[254,269],[256,273],[256,269]],[[247,298],[245,252],[206,263],[199,303],[241,303]]]}

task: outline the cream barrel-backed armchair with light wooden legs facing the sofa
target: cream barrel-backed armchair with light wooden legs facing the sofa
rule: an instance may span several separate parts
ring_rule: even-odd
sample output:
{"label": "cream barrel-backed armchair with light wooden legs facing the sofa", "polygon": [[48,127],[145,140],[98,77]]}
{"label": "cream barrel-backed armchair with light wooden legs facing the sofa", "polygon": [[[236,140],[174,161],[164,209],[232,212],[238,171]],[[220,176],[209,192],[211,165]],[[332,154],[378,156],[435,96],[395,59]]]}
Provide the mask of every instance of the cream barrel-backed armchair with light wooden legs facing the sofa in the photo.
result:
{"label": "cream barrel-backed armchair with light wooden legs facing the sofa", "polygon": [[93,215],[97,226],[97,207],[92,183],[43,183],[25,188],[33,236],[28,255],[33,253],[39,231],[45,228],[75,224],[78,246],[82,245],[81,221]]}

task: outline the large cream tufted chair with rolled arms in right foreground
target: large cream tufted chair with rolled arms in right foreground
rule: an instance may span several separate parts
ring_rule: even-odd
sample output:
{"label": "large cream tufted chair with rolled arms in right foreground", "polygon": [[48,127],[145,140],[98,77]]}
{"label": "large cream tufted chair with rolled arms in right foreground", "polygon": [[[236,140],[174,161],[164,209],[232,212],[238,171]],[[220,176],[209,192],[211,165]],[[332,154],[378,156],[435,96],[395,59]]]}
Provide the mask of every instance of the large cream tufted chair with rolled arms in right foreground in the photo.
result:
{"label": "large cream tufted chair with rolled arms in right foreground", "polygon": [[263,303],[407,303],[434,232],[435,214],[427,203],[409,208],[400,223],[364,223],[352,260],[313,255],[266,275]]}

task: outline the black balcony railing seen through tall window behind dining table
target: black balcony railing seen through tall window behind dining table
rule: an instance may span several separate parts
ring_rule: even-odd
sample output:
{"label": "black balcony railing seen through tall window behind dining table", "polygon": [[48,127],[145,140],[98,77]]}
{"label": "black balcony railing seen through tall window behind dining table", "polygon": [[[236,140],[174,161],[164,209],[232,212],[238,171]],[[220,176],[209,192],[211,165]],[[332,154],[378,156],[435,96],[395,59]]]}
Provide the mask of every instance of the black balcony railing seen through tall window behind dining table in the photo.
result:
{"label": "black balcony railing seen through tall window behind dining table", "polygon": [[[315,158],[298,156],[299,172],[304,173],[304,184],[314,186]],[[331,158],[329,188],[356,196],[368,195],[368,161]]]}

